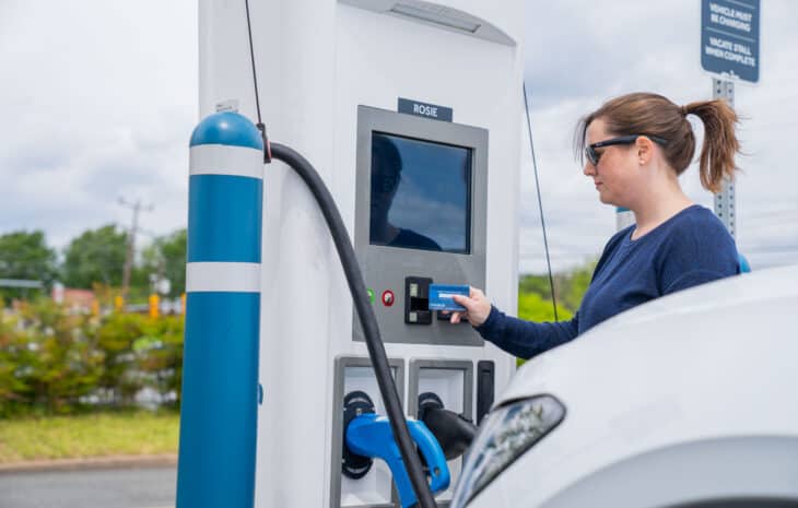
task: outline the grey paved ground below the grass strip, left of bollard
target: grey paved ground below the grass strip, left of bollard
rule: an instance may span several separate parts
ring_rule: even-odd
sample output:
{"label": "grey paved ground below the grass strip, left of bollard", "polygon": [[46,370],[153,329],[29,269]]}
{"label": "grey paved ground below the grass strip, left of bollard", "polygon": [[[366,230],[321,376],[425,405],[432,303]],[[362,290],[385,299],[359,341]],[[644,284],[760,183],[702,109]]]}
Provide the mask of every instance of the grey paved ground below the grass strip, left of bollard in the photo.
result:
{"label": "grey paved ground below the grass strip, left of bollard", "polygon": [[2,508],[172,508],[174,466],[0,474]]}

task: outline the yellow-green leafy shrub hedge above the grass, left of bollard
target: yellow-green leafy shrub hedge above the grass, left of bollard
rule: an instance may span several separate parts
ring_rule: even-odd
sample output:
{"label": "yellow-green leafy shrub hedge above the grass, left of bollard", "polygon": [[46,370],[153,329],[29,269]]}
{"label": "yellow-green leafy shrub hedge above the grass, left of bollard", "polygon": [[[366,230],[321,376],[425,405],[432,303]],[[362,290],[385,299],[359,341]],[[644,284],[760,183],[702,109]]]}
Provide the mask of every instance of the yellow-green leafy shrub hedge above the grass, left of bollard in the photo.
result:
{"label": "yellow-green leafy shrub hedge above the grass, left of bollard", "polygon": [[183,317],[98,319],[43,298],[0,319],[0,417],[131,406],[144,387],[179,403],[181,377]]}

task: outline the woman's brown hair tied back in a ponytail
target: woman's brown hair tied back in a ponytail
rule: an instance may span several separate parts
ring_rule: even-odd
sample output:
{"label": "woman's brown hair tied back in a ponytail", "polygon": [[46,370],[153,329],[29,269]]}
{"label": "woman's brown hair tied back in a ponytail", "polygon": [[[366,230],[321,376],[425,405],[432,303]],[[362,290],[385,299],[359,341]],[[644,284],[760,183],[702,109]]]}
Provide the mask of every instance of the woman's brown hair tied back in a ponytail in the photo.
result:
{"label": "woman's brown hair tied back in a ponytail", "polygon": [[686,119],[688,115],[695,115],[704,122],[704,146],[699,165],[701,185],[718,192],[724,176],[734,178],[735,154],[740,151],[740,143],[735,135],[738,117],[724,101],[700,101],[678,106],[657,94],[622,95],[579,120],[574,149],[582,161],[587,127],[600,118],[614,135],[647,134],[668,140],[665,145],[660,145],[662,153],[670,167],[681,175],[695,153],[695,135]]}

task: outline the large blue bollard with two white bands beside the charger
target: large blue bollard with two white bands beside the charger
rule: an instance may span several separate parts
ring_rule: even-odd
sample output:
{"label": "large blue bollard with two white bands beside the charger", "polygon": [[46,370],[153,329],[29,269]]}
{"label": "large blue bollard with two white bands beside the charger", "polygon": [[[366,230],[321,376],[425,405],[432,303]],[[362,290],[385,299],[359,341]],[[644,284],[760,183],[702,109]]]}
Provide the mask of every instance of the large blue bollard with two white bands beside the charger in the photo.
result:
{"label": "large blue bollard with two white bands beside the charger", "polygon": [[178,508],[251,508],[263,142],[237,113],[190,142]]}

